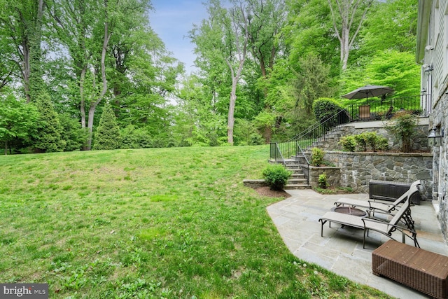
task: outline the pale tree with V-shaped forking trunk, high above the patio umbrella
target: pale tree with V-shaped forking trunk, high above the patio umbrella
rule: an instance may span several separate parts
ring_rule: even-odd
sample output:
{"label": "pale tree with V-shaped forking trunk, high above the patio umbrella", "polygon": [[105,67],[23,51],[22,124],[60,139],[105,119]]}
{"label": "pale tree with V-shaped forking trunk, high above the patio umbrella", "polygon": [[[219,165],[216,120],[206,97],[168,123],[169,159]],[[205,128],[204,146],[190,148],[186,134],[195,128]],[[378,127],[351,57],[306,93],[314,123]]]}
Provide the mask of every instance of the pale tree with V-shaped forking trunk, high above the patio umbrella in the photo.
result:
{"label": "pale tree with V-shaped forking trunk, high above the patio umbrella", "polygon": [[372,2],[373,0],[328,0],[333,28],[339,39],[342,71],[347,68],[350,50]]}

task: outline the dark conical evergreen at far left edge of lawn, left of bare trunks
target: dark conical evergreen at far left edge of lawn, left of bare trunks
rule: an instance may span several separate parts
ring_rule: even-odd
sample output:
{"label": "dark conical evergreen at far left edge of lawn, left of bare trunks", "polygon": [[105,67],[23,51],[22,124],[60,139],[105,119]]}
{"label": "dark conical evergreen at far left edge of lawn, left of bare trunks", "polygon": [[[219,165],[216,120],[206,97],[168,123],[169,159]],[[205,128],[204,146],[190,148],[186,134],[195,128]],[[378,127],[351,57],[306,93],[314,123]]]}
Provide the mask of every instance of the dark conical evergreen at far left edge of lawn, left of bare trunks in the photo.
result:
{"label": "dark conical evergreen at far left edge of lawn, left of bare trunks", "polygon": [[34,148],[46,153],[64,151],[66,141],[62,139],[62,125],[59,123],[59,116],[50,96],[43,93],[37,97],[35,104],[38,118],[36,120],[37,132],[33,137]]}

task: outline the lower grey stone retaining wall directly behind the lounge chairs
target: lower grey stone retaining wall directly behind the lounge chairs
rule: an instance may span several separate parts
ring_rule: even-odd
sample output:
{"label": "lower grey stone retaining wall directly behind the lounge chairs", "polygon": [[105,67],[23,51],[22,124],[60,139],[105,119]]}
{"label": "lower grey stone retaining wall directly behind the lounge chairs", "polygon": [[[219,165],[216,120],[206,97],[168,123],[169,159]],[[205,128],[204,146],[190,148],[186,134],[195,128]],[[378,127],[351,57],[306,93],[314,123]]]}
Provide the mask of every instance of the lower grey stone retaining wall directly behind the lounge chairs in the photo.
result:
{"label": "lower grey stone retaining wall directly behind the lounge chairs", "polygon": [[[324,158],[340,169],[339,186],[368,193],[371,179],[403,183],[421,180],[424,186],[423,199],[432,199],[433,155],[430,153],[327,151]],[[332,180],[336,181],[337,178]]]}

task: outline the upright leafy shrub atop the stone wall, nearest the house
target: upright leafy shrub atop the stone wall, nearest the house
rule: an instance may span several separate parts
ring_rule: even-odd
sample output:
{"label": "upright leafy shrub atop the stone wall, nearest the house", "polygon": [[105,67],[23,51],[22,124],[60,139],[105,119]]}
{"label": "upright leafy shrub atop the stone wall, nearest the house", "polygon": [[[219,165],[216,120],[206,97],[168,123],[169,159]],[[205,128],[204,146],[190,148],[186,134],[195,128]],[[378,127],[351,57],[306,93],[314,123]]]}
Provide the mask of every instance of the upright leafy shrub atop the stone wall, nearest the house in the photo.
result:
{"label": "upright leafy shrub atop the stone wall, nearest the house", "polygon": [[414,146],[414,137],[416,137],[416,125],[418,118],[413,114],[402,112],[397,113],[386,126],[386,130],[395,135],[401,141],[401,151],[404,153],[412,152]]}

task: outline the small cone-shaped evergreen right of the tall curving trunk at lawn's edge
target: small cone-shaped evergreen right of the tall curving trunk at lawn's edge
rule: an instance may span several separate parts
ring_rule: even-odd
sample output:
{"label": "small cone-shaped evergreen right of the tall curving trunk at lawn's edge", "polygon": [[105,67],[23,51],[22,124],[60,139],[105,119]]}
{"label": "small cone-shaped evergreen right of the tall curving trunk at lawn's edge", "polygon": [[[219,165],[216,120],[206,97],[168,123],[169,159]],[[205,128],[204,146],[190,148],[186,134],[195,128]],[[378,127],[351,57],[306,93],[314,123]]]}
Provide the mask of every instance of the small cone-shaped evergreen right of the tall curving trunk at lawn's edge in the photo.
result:
{"label": "small cone-shaped evergreen right of the tall curving trunk at lawn's edge", "polygon": [[121,146],[120,127],[118,127],[115,114],[109,103],[104,106],[94,140],[95,150],[111,150]]}

